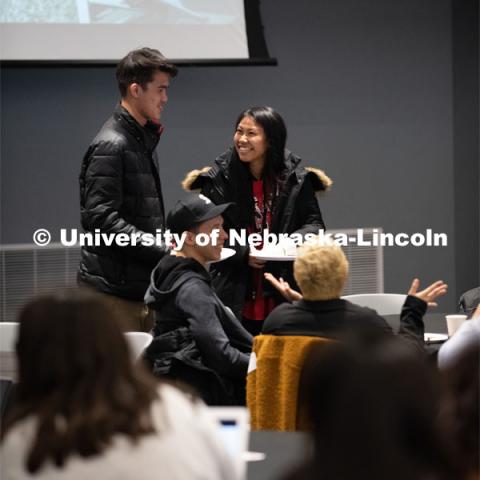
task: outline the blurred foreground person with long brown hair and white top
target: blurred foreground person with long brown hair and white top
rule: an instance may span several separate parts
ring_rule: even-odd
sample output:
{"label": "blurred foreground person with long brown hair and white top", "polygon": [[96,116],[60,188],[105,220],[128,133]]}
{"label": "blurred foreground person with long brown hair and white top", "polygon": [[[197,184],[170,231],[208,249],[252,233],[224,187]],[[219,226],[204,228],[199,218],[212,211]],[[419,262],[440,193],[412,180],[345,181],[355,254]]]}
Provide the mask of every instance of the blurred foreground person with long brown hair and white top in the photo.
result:
{"label": "blurred foreground person with long brown hair and white top", "polygon": [[206,408],[134,365],[101,299],[41,297],[19,322],[3,480],[235,478]]}

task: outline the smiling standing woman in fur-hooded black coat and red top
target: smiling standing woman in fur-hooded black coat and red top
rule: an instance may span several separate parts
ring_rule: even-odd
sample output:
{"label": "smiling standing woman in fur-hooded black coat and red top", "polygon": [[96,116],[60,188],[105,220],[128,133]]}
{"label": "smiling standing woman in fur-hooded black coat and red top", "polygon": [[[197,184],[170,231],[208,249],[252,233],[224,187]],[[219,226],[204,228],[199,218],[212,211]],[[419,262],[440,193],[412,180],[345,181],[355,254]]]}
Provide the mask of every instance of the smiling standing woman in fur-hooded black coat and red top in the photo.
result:
{"label": "smiling standing woman in fur-hooded black coat and red top", "polygon": [[[251,107],[235,123],[233,147],[213,167],[190,172],[182,185],[200,190],[214,203],[235,202],[224,215],[225,230],[274,234],[317,233],[325,228],[315,193],[332,181],[321,171],[300,166],[300,158],[285,149],[287,129],[271,107]],[[212,266],[213,284],[222,301],[243,320],[253,335],[282,301],[263,280],[268,270],[292,281],[288,262],[265,261],[235,246],[236,255]],[[292,281],[292,283],[294,283]]]}

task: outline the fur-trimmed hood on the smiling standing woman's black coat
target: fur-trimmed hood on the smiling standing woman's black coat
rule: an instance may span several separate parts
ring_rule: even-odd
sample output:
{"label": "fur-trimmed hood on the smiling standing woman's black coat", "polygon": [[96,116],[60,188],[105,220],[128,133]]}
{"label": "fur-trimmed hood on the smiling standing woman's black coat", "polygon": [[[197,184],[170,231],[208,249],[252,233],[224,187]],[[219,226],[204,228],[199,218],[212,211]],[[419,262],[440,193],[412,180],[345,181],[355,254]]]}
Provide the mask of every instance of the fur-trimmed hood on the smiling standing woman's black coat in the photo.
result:
{"label": "fur-trimmed hood on the smiling standing woman's black coat", "polygon": [[[188,172],[181,182],[183,189],[186,191],[199,191],[202,188],[203,178],[214,178],[220,172],[224,172],[225,174],[230,163],[231,151],[232,150],[229,149],[220,155],[215,160],[215,166],[213,167],[203,167]],[[302,176],[302,171],[304,175],[310,175],[316,193],[330,189],[333,181],[323,170],[314,167],[299,167],[300,162],[301,159],[299,157],[288,150],[285,151],[285,166],[291,173],[295,172],[297,177]]]}

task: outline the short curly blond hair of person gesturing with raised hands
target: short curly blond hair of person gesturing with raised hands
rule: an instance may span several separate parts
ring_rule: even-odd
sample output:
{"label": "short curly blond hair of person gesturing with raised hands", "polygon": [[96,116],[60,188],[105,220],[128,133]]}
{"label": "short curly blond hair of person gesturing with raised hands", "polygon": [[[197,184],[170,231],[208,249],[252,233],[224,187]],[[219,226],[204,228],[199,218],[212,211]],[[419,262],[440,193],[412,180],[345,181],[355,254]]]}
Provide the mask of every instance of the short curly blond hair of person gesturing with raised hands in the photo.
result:
{"label": "short curly blond hair of person gesturing with raised hands", "polygon": [[338,245],[304,245],[293,273],[305,300],[331,300],[342,294],[348,260]]}

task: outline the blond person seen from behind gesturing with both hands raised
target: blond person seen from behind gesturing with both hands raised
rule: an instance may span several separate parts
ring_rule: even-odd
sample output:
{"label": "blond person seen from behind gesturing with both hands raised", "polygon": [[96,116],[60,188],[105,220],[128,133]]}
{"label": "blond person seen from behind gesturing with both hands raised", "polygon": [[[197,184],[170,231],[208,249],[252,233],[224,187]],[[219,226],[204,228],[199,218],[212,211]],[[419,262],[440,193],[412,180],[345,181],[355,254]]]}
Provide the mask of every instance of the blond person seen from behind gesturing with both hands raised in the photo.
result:
{"label": "blond person seen from behind gesturing with both hands raised", "polygon": [[[338,245],[302,246],[293,270],[301,293],[281,278],[265,274],[291,303],[279,305],[270,313],[262,334],[321,336],[360,343],[394,335],[375,310],[340,298],[348,277],[348,260]],[[438,280],[422,291],[418,291],[419,286],[420,280],[415,278],[402,308],[398,335],[423,346],[423,315],[428,306],[437,305],[435,299],[446,293],[447,285]]]}

